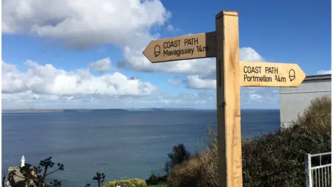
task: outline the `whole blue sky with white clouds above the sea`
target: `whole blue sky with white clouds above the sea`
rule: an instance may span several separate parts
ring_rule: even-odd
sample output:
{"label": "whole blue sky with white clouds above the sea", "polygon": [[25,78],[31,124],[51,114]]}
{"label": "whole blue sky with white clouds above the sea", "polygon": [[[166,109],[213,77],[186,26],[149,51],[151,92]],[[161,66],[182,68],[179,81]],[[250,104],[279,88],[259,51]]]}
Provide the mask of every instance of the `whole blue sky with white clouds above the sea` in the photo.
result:
{"label": "whole blue sky with white clouds above the sea", "polygon": [[[215,59],[152,64],[151,40],[215,30],[239,12],[239,60],[331,73],[331,1],[3,0],[3,109],[216,109]],[[279,89],[241,87],[241,109]]]}

